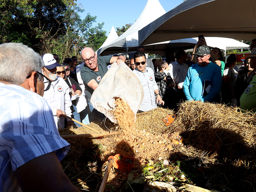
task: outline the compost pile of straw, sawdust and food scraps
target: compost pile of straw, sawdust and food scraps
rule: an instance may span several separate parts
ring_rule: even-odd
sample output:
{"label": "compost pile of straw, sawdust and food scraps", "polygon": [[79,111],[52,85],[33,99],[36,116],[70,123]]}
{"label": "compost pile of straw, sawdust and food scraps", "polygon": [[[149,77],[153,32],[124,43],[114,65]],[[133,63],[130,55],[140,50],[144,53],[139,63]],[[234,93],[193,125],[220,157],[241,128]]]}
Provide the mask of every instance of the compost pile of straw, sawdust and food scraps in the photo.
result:
{"label": "compost pile of straw, sawdust and food scraps", "polygon": [[[116,101],[119,110],[125,104]],[[97,191],[108,156],[122,154],[135,158],[132,172],[113,168],[106,191],[129,190],[129,186],[147,191],[145,185],[153,185],[152,181],[160,182],[158,188],[162,182],[176,185],[177,191],[184,190],[180,183],[219,191],[253,191],[256,186],[254,115],[225,105],[193,101],[182,103],[174,122],[168,126],[163,119],[174,111],[163,108],[137,114],[133,126],[133,112],[128,107],[116,113],[121,122],[130,119],[119,123],[119,127],[108,120],[89,124],[100,132],[117,128],[116,135],[68,140],[71,149],[61,164],[78,188]],[[61,135],[92,133],[84,127],[59,131]]]}

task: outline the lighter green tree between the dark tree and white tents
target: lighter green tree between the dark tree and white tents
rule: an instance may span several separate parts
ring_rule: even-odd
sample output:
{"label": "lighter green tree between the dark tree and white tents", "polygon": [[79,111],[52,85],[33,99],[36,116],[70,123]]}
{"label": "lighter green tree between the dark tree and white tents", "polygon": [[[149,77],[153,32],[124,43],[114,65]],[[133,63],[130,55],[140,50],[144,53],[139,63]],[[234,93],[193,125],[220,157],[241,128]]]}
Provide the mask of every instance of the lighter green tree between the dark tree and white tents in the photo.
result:
{"label": "lighter green tree between the dark tree and white tents", "polygon": [[92,17],[89,13],[81,20],[78,15],[79,7],[73,7],[64,14],[63,23],[66,26],[66,33],[61,36],[46,36],[41,50],[58,54],[60,60],[77,56],[80,59],[80,52],[86,46],[98,49],[99,42],[106,40],[106,31],[102,30],[103,24],[92,27],[96,21],[96,16]]}

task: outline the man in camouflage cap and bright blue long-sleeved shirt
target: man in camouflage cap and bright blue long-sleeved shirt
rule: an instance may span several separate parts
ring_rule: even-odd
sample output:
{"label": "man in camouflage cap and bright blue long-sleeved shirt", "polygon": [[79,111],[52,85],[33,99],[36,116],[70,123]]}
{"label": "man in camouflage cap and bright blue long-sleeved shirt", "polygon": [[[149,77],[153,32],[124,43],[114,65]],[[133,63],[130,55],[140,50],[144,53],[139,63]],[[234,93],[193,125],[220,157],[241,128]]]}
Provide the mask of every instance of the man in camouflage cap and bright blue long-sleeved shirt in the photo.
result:
{"label": "man in camouflage cap and bright blue long-sleeved shirt", "polygon": [[210,49],[202,45],[194,53],[197,63],[188,68],[188,74],[183,84],[187,100],[214,102],[221,88],[220,66],[209,61]]}

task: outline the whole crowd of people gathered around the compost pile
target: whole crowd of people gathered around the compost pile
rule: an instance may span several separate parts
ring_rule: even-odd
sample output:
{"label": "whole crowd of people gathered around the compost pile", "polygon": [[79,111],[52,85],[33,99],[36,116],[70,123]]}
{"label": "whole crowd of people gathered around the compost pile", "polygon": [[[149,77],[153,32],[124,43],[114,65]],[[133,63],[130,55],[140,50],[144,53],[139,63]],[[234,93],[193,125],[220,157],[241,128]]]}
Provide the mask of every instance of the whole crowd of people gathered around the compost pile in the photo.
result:
{"label": "whole crowd of people gathered around the compost pile", "polygon": [[238,70],[235,54],[225,63],[220,49],[209,49],[205,39],[197,42],[192,54],[167,50],[164,60],[146,58],[143,45],[129,60],[122,55],[98,56],[86,47],[82,61],[73,56],[61,64],[56,54],[40,56],[20,43],[1,44],[0,191],[38,191],[38,185],[41,191],[78,191],[59,162],[70,146],[58,129],[79,126],[67,116],[84,124],[105,117],[92,106],[91,97],[114,62],[125,63],[143,87],[138,113],[157,106],[177,109],[185,100],[256,112],[256,39],[250,47],[251,54]]}

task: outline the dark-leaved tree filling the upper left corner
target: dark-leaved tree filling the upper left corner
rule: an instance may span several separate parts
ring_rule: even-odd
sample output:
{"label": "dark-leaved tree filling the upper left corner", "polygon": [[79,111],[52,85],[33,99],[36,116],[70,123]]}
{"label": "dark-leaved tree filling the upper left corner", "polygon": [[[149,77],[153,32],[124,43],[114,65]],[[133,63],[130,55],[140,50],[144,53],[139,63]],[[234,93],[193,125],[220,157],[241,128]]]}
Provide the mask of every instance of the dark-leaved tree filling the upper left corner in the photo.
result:
{"label": "dark-leaved tree filling the upper left corner", "polygon": [[0,4],[1,43],[18,42],[32,46],[44,36],[60,35],[65,28],[62,12],[71,1],[2,0]]}

